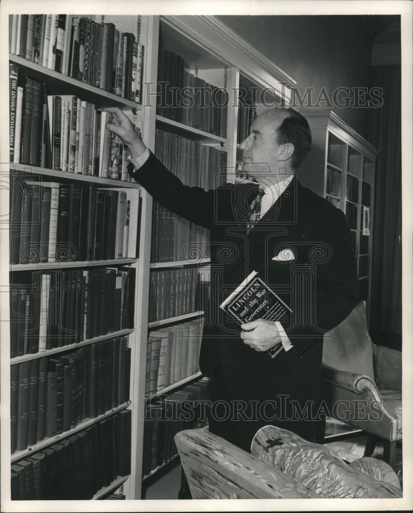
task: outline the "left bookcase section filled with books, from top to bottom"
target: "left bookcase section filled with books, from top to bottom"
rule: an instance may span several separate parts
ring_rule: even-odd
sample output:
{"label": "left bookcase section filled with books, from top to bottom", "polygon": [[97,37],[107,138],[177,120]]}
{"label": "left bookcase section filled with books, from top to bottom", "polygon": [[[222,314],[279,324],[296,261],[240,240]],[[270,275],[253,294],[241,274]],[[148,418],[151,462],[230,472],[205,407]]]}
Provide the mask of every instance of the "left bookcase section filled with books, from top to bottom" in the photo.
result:
{"label": "left bookcase section filled with books, from top to bottom", "polygon": [[[32,18],[34,27],[36,23],[42,27],[42,24],[47,23],[49,16],[28,15],[26,17]],[[82,44],[91,44],[95,29],[101,31],[103,41],[105,38],[111,41],[111,37],[115,37],[116,33],[119,34],[118,30],[122,33],[127,32],[125,40],[128,41],[129,46],[125,45],[125,49],[127,48],[128,59],[125,62],[123,60],[117,62],[121,72],[123,70],[122,81],[125,85],[124,91],[121,90],[119,94],[111,92],[109,80],[112,70],[113,73],[119,71],[119,66],[115,67],[113,61],[109,64],[109,53],[100,50],[104,45],[100,44],[97,36],[94,40],[95,54],[99,56],[101,52],[102,55],[99,59],[100,67],[96,68],[96,76],[102,73],[101,78],[105,76],[106,83],[94,83],[90,80],[90,76],[88,78],[86,75],[83,76],[83,80],[80,77],[76,78],[73,76],[74,68],[71,71],[71,66],[67,62],[66,70],[65,65],[58,70],[57,64],[56,69],[49,69],[44,62],[42,65],[31,62],[28,54],[18,55],[22,53],[19,51],[21,47],[19,49],[15,47],[14,52],[9,54],[11,69],[18,74],[16,88],[19,86],[23,88],[25,102],[22,112],[23,123],[29,127],[27,122],[29,81],[24,77],[29,77],[33,84],[40,84],[43,93],[40,97],[40,105],[43,105],[44,112],[42,123],[37,125],[32,121],[31,133],[30,130],[28,132],[30,139],[26,140],[25,134],[21,134],[22,145],[26,144],[26,141],[32,142],[36,139],[36,130],[44,135],[44,139],[43,137],[41,139],[43,161],[41,162],[40,157],[36,159],[33,152],[30,152],[30,159],[25,160],[23,149],[16,143],[13,149],[17,153],[11,154],[12,162],[9,167],[12,263],[9,266],[11,308],[7,318],[12,321],[8,333],[11,350],[15,347],[16,333],[26,333],[19,334],[17,337],[20,346],[17,346],[17,352],[11,354],[10,360],[12,498],[99,500],[121,486],[130,486],[128,481],[132,475],[132,411],[137,402],[137,397],[133,395],[134,368],[139,355],[137,350],[140,340],[139,326],[142,324],[137,308],[139,272],[142,271],[139,254],[141,236],[139,212],[142,200],[140,200],[140,186],[132,183],[125,173],[126,164],[120,164],[115,168],[114,162],[110,160],[111,157],[113,158],[112,151],[114,153],[119,151],[122,159],[124,149],[121,146],[115,147],[110,137],[106,138],[106,143],[110,146],[104,148],[104,132],[101,129],[105,119],[99,126],[96,121],[99,118],[94,117],[97,111],[101,112],[109,106],[118,106],[129,113],[140,129],[144,128],[144,108],[134,101],[131,91],[136,84],[136,81],[132,82],[132,74],[139,68],[139,63],[142,61],[138,58],[139,55],[136,55],[136,63],[132,58],[133,51],[139,48],[138,24],[142,19],[135,16],[133,32],[130,32],[130,25],[123,26],[121,18],[115,21],[115,23],[119,22],[119,24],[116,23],[116,32],[114,32],[115,25],[111,24],[112,19],[102,21],[101,16],[98,15],[83,17],[68,15],[65,20],[66,25],[61,23],[64,16],[56,15],[55,18],[56,24],[58,23],[56,30],[61,30],[62,27],[66,29],[63,32],[66,34],[64,40],[62,40],[62,33],[60,36],[56,34],[56,40],[60,37],[60,43],[64,45],[61,48],[63,56],[68,56],[69,53],[72,56],[75,54],[75,47],[71,43],[71,36],[75,36],[74,32],[71,33],[71,28],[77,23],[93,26],[89,41],[85,32],[83,35],[80,33],[80,37],[84,38]],[[144,23],[146,21],[145,18]],[[18,23],[21,22],[20,19]],[[53,22],[54,18],[50,23]],[[15,45],[14,37],[17,37],[15,30],[16,28],[10,34],[12,46]],[[18,39],[23,41],[24,37],[26,32],[21,29]],[[40,45],[39,37],[37,33],[33,38],[33,47],[36,46],[36,38]],[[46,52],[44,35],[41,40],[43,51]],[[142,37],[141,42],[143,41]],[[102,71],[102,66],[106,66],[106,75]],[[86,73],[88,69],[91,68],[87,68],[86,65],[83,67]],[[114,90],[115,86],[112,85]],[[62,98],[62,103],[66,101],[66,97],[71,98],[72,102],[68,103],[70,110],[65,108],[61,112],[60,136],[62,137],[61,150],[64,152],[63,161],[54,160],[53,151],[58,143],[54,139],[54,132],[49,135],[45,131],[45,126],[53,130],[55,128],[51,127],[55,112],[50,108],[54,104],[49,102],[49,98],[54,102],[55,97]],[[16,102],[18,105],[18,98]],[[80,119],[79,125],[76,126],[75,112],[79,112],[79,118],[83,113],[81,114],[75,107],[81,105],[83,109],[84,104],[86,109],[89,108],[88,104],[91,105],[90,118],[85,121],[81,129]],[[34,110],[36,105],[31,111],[32,118],[36,113]],[[49,107],[49,115],[45,114],[47,111],[44,105]],[[65,125],[64,115],[68,112],[70,117]],[[103,117],[104,114],[100,116]],[[73,133],[69,131],[65,133],[69,120],[73,122]],[[97,131],[97,128],[100,131]],[[80,152],[79,157],[76,154],[75,160],[78,167],[69,169],[72,142],[73,148],[75,147],[74,132],[78,134],[78,141],[84,138],[82,143],[77,143],[78,146],[84,147],[82,169]],[[16,135],[15,132],[14,135]],[[67,143],[63,142],[64,137]],[[86,137],[89,138],[88,148]],[[92,157],[97,160],[97,164]],[[105,169],[103,162],[106,158],[110,161],[110,173]],[[67,211],[64,211],[63,207],[61,210],[58,210],[57,206],[53,207],[50,200],[47,203],[45,191],[48,188],[51,191],[53,188],[57,190],[59,206],[62,204],[62,191],[70,192]],[[34,204],[37,190],[40,191],[40,207],[32,206],[30,219],[22,219],[23,207],[28,205],[28,198],[33,198],[32,204]],[[77,198],[84,203],[75,203],[75,192]],[[92,194],[95,195],[92,196]],[[96,201],[99,202],[99,198],[103,201],[104,207],[96,213]],[[45,204],[47,208],[44,207]],[[131,207],[132,212],[128,210]],[[57,230],[56,247],[51,242],[52,222],[44,215],[49,209],[51,217],[53,208],[56,210],[54,212],[54,229]],[[94,214],[91,213],[93,211]],[[21,215],[19,216],[18,213]],[[35,213],[39,215],[34,217]],[[99,213],[102,214],[100,219]],[[60,229],[64,224],[62,219],[66,215],[69,220],[68,231],[64,233]],[[100,224],[96,223],[96,219]],[[99,234],[98,225],[101,230]],[[48,239],[34,240],[33,232],[36,230],[40,232],[44,227],[45,233],[49,235]],[[16,232],[18,232],[19,241],[17,253],[13,257],[13,248],[16,249],[13,246],[15,244],[13,238]],[[82,235],[85,233],[86,237]],[[28,237],[29,256],[27,258],[22,257],[23,236]],[[37,247],[36,244],[40,245],[37,252],[33,251],[33,248]],[[63,253],[59,253],[62,258],[58,258],[57,253],[54,254],[54,250],[58,249],[60,244],[66,245],[63,249],[69,251],[67,258],[63,258]],[[26,299],[26,305],[29,305],[29,310],[25,310],[24,315],[21,315],[23,310],[16,311],[17,303],[13,303],[13,300],[17,301],[19,297],[21,301]],[[28,313],[32,321],[26,321],[29,319]],[[2,318],[5,319],[6,316],[2,314]],[[22,321],[19,321],[22,318],[24,323],[29,322],[29,324],[23,326]],[[16,322],[19,324],[13,327],[13,323]],[[20,340],[22,337],[23,340]],[[25,478],[22,472],[26,472]],[[49,477],[54,476],[54,481],[49,479],[46,486],[44,478],[47,472]],[[76,476],[71,479],[73,486],[68,485],[63,477],[62,479],[59,477],[71,476],[72,473]],[[43,489],[39,483],[43,483]]]}

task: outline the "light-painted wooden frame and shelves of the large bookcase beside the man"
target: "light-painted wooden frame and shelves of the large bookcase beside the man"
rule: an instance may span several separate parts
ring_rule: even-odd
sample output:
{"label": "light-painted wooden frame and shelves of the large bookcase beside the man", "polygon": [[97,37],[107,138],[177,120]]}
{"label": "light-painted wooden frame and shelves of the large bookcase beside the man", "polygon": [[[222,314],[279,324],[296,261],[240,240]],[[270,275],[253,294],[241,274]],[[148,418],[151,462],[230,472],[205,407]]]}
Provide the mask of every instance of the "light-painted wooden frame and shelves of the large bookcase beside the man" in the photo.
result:
{"label": "light-painted wooden frame and shelves of the large bookcase beside the man", "polygon": [[[99,21],[101,21],[100,16],[96,16],[96,21],[98,17]],[[117,28],[123,30],[122,23],[125,22],[125,17],[119,17],[119,23],[117,23],[116,18],[116,16],[111,16],[110,19],[103,19],[103,21],[113,22]],[[128,18],[130,18],[130,16]],[[124,29],[126,31],[130,31],[130,19],[128,23],[129,25]],[[135,26],[137,26],[137,19],[135,19],[134,23]],[[239,108],[239,91],[245,90],[245,98],[246,101],[249,102],[252,102],[254,98],[257,100],[258,97],[258,101],[260,98],[261,100],[265,98],[267,103],[277,100],[278,104],[288,105],[290,99],[289,88],[294,86],[295,82],[265,56],[260,54],[213,16],[142,16],[139,27],[140,42],[145,47],[142,105],[74,80],[61,73],[43,68],[40,65],[34,64],[14,54],[9,55],[10,62],[16,63],[22,69],[22,72],[45,82],[48,88],[48,94],[76,94],[81,96],[84,100],[92,101],[99,107],[119,106],[126,112],[133,112],[142,127],[143,141],[152,151],[155,151],[155,135],[157,129],[170,131],[171,133],[187,137],[203,145],[212,146],[219,151],[225,150],[227,152],[227,161],[225,169],[221,170],[224,175],[221,180],[233,181],[238,161],[237,152],[239,145],[237,145],[237,132],[239,117],[241,115]],[[226,89],[228,103],[226,108],[227,122],[225,133],[220,133],[219,135],[212,134],[200,128],[191,127],[179,121],[169,119],[156,111],[155,93],[158,80],[159,48],[161,46],[167,47],[169,51],[180,55],[185,61],[185,69],[190,71],[193,75],[198,76],[213,86]],[[260,96],[264,93],[265,96]],[[30,173],[36,173],[47,181],[69,181],[70,183],[92,184],[98,187],[140,189],[139,185],[135,183],[116,182],[110,179],[72,174],[47,168],[29,168],[29,166],[23,164],[10,165],[10,175],[13,175],[13,173],[21,173],[25,176],[28,176]],[[128,408],[132,411],[131,474],[129,477],[117,479],[111,483],[109,487],[103,488],[99,494],[94,497],[96,499],[107,495],[111,490],[115,491],[120,485],[122,485],[123,492],[128,499],[141,499],[143,487],[144,417],[146,410],[146,341],[148,339],[148,333],[150,330],[162,326],[173,326],[188,320],[200,319],[203,314],[202,311],[195,310],[184,315],[158,319],[148,323],[148,298],[151,272],[162,269],[197,267],[207,273],[209,259],[201,255],[200,258],[194,258],[192,260],[178,259],[176,261],[151,262],[153,202],[151,196],[143,189],[140,190],[140,196],[141,211],[139,226],[137,226],[137,224],[130,226],[130,231],[139,231],[139,258],[89,263],[71,262],[56,266],[47,263],[44,265],[35,264],[36,269],[50,269],[54,267],[72,269],[77,267],[92,268],[96,266],[127,265],[134,268],[136,271],[134,327],[118,333],[128,336],[128,345],[131,348],[130,401],[118,408]],[[10,267],[10,271],[13,274],[17,274],[26,269],[28,269],[26,264],[15,264]],[[3,298],[2,304],[5,305],[8,304],[8,302],[4,301]],[[5,332],[6,330],[3,329],[2,334],[4,335]],[[112,337],[112,334],[110,336]],[[10,338],[9,332],[6,333],[6,338]],[[2,340],[2,344],[7,342],[6,338],[4,341]],[[106,338],[109,338],[109,336],[87,340],[81,343],[81,345],[88,345],[94,342],[99,343]],[[63,351],[69,351],[69,349],[63,347],[46,351],[46,353],[42,353],[41,355],[25,355],[15,359],[12,365],[28,359],[40,358],[40,356]],[[198,379],[200,376],[201,374],[196,372],[193,376],[170,384],[157,393],[170,393],[185,383]],[[115,410],[110,413],[115,413]],[[102,417],[97,417],[85,421],[78,426],[78,430],[86,428],[88,425],[99,423],[101,418]],[[74,432],[73,430],[69,433],[64,432],[60,435],[60,438],[67,437],[69,434],[72,435]],[[33,453],[52,443],[55,443],[55,439],[44,440],[40,444],[30,447],[27,451]],[[24,458],[26,452],[14,453],[12,460],[17,461],[18,459]],[[158,468],[154,469],[151,475],[158,470]]]}

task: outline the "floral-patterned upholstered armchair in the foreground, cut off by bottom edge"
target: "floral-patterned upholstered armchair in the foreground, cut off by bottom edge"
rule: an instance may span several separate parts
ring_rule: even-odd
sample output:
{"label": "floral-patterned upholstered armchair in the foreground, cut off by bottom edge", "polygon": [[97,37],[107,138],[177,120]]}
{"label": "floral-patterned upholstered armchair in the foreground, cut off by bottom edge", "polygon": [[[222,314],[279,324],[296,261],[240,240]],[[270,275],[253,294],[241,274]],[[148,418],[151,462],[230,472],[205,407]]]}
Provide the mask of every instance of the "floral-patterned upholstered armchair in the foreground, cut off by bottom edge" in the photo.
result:
{"label": "floral-patterned upholstered armchair in the foreground, cut off by bottom edge", "polygon": [[192,499],[400,498],[394,470],[374,458],[346,464],[327,446],[265,426],[251,453],[206,428],[181,431],[176,447]]}

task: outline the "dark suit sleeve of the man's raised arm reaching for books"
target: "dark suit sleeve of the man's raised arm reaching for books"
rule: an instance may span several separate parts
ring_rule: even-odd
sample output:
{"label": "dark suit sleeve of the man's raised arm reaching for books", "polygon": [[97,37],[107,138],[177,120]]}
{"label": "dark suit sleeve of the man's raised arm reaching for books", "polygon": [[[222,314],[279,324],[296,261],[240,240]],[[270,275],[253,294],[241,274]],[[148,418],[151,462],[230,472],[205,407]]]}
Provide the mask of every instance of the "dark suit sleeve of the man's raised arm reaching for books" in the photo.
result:
{"label": "dark suit sleeve of the man's raised arm reaching for books", "polygon": [[159,201],[189,221],[210,228],[214,219],[214,191],[189,187],[150,153],[148,160],[131,176]]}

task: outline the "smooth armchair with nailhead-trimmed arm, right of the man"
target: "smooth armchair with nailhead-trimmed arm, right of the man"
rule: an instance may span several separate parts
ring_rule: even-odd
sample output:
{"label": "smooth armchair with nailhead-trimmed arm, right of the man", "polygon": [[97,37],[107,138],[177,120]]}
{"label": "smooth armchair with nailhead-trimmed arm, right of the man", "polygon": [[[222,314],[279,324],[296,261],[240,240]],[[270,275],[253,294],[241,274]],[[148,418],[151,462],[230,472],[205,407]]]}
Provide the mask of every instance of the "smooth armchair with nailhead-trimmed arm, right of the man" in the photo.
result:
{"label": "smooth armchair with nailhead-trimmed arm, right of the man", "polygon": [[402,355],[372,343],[364,301],[325,334],[322,399],[331,417],[367,433],[365,456],[382,439],[384,459],[394,468],[402,440]]}

